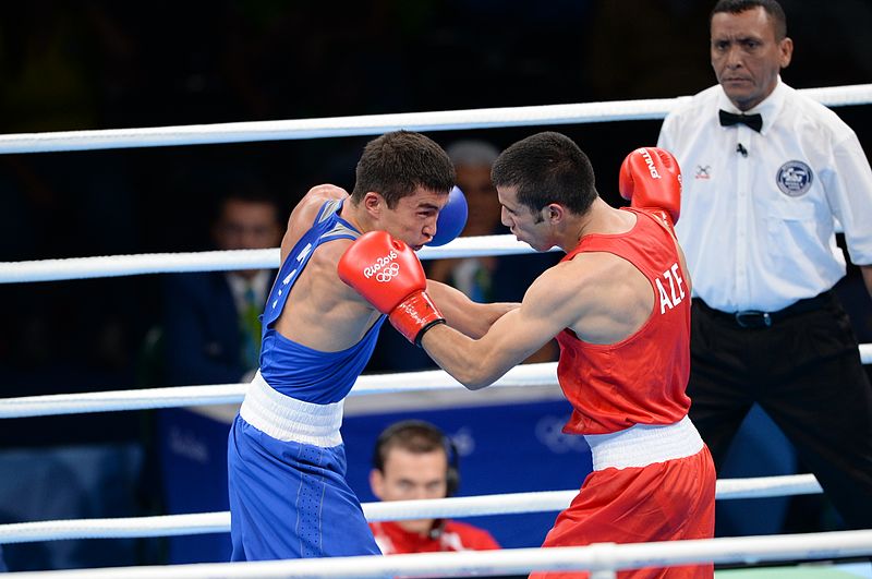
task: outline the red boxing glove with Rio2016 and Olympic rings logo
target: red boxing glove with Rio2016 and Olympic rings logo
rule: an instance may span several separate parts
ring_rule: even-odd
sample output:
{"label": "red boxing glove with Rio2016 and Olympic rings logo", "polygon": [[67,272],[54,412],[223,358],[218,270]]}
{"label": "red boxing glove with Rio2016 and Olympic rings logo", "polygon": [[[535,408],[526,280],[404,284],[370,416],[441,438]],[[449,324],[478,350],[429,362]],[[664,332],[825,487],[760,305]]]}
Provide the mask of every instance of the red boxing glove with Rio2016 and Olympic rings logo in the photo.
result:
{"label": "red boxing glove with Rio2016 and Olympic rings logo", "polygon": [[397,330],[417,347],[424,333],[445,318],[425,292],[417,255],[386,231],[361,236],[339,258],[339,279],[388,314]]}

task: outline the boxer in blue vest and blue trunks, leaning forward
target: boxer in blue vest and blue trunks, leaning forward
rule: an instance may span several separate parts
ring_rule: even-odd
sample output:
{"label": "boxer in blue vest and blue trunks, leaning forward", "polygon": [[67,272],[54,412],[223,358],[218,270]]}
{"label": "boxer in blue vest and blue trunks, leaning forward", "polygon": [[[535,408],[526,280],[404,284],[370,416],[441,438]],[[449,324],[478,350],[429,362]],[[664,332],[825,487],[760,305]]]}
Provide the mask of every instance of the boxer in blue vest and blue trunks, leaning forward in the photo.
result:
{"label": "boxer in blue vest and blue trunks, leaning forward", "polygon": [[[379,553],[344,480],[339,426],[384,316],[340,281],[337,264],[367,231],[387,231],[415,250],[439,229],[460,231],[437,222],[453,181],[436,143],[398,131],[366,145],[351,195],[318,185],[291,213],[262,318],[261,370],[229,435],[233,560]],[[465,208],[452,205],[445,215]],[[474,303],[436,282],[427,289],[448,323],[471,337],[516,305]]]}

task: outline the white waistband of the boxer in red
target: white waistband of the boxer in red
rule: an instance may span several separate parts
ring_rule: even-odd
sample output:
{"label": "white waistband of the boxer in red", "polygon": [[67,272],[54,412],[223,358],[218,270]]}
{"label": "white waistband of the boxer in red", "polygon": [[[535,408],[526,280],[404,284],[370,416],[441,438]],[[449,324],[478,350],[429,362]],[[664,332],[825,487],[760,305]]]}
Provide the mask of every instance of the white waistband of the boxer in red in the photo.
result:
{"label": "white waistband of the boxer in red", "polygon": [[646,467],[693,456],[703,446],[688,417],[675,424],[634,424],[620,432],[586,434],[584,439],[591,445],[593,470]]}

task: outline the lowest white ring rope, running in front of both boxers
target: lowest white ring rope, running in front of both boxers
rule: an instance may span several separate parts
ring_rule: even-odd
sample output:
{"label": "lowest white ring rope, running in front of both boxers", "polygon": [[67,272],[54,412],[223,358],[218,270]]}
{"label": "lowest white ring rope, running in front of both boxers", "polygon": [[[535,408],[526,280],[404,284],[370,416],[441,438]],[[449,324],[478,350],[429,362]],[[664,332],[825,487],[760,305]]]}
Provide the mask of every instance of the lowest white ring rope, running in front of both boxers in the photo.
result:
{"label": "lowest white ring rope, running in front of both boxers", "polygon": [[872,531],[838,531],[794,535],[763,535],[667,541],[657,543],[597,543],[582,547],[504,548],[414,555],[374,555],[246,563],[114,567],[16,574],[16,578],[206,579],[229,578],[354,578],[469,577],[520,575],[534,569],[590,569],[592,579],[614,578],[617,569],[694,563],[759,563],[797,558],[845,558],[872,554]]}

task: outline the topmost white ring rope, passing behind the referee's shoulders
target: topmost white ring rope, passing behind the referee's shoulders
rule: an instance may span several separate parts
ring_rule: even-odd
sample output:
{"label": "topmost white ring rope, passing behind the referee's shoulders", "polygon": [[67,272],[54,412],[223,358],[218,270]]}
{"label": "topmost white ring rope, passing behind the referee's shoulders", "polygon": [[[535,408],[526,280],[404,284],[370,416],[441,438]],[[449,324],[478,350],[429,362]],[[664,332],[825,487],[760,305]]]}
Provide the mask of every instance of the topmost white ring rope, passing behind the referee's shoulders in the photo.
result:
{"label": "topmost white ring rope, passing behind the referee's shoulders", "polygon": [[[799,92],[829,107],[864,105],[872,100],[872,84],[828,86],[800,89]],[[452,131],[458,129],[649,120],[664,118],[679,102],[689,98],[689,96],[681,96],[676,98],[611,100],[538,107],[364,114],[359,117],[111,129],[104,131],[21,133],[0,135],[0,154],[377,135],[398,129]]]}

